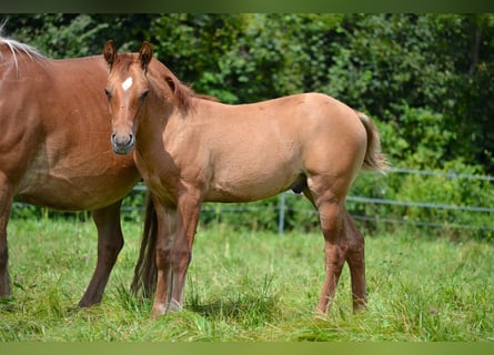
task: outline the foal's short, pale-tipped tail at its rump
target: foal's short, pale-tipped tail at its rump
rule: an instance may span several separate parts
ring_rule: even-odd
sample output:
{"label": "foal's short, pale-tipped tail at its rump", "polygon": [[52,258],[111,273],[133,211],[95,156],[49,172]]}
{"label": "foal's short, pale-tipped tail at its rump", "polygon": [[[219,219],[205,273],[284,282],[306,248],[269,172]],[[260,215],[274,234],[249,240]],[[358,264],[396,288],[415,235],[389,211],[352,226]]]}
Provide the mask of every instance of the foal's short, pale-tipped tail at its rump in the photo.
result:
{"label": "foal's short, pale-tipped tail at its rump", "polygon": [[370,171],[385,172],[389,168],[386,156],[381,152],[381,139],[377,129],[364,113],[355,111],[367,132],[367,150],[362,168]]}

